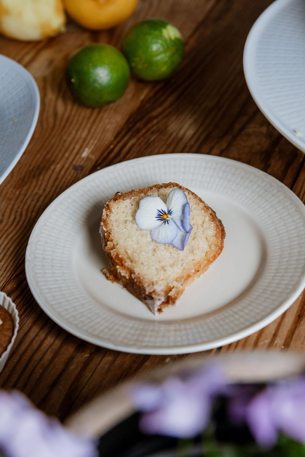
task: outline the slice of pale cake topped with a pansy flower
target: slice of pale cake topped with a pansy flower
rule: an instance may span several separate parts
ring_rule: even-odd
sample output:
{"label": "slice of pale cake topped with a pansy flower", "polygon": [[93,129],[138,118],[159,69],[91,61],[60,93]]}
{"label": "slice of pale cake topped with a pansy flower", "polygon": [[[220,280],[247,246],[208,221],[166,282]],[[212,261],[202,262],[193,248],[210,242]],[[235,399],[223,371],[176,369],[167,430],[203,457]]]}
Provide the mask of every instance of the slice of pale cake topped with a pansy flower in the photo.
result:
{"label": "slice of pale cake topped with a pansy flower", "polygon": [[100,233],[111,265],[103,271],[107,279],[155,314],[208,269],[225,239],[216,213],[173,182],[117,192],[105,205]]}

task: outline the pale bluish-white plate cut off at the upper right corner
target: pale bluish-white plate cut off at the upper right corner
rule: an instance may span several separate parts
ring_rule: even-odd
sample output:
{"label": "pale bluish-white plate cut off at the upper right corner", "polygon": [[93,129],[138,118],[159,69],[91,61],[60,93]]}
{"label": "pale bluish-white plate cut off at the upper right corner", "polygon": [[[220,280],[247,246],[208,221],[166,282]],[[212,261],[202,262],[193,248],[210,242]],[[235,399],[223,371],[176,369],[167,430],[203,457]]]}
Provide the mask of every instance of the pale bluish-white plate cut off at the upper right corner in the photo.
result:
{"label": "pale bluish-white plate cut off at the upper right corner", "polygon": [[262,113],[305,152],[304,0],[277,0],[262,13],[246,40],[244,71]]}

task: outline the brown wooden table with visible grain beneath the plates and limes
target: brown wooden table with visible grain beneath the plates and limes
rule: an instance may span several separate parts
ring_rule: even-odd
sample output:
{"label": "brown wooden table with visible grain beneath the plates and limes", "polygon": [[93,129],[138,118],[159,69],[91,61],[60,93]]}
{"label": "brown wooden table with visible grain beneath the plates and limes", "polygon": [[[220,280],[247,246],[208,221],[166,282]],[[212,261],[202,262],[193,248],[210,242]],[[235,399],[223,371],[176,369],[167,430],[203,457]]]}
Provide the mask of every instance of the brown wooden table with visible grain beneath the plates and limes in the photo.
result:
{"label": "brown wooden table with visible grain beneath the plates and limes", "polygon": [[[242,69],[247,33],[270,0],[141,0],[127,22],[67,32],[39,43],[0,38],[0,52],[37,81],[41,110],[35,133],[0,186],[0,290],[16,303],[20,330],[0,386],[16,388],[64,419],[97,393],[178,357],[109,351],[79,340],[49,319],[27,286],[24,256],[32,228],[67,187],[93,171],[151,154],[214,154],[273,175],[305,202],[305,158],[265,119]],[[171,80],[130,81],[124,96],[102,109],[77,105],[64,81],[70,54],[91,42],[119,47],[127,28],[148,17],[173,22],[186,55]],[[305,296],[254,335],[211,351],[305,349]]]}

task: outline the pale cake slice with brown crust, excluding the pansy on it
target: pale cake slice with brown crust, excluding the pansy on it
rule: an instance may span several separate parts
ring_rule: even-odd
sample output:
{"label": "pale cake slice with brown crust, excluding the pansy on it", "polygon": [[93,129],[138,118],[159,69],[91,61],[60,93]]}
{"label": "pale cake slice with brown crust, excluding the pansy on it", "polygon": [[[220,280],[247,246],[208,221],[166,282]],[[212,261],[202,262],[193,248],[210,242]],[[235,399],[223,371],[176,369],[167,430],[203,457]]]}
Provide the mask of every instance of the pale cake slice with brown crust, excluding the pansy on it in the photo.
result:
{"label": "pale cake slice with brown crust, excluding the pansy on it", "polygon": [[[160,197],[181,189],[190,204],[193,230],[184,250],[155,242],[139,228],[135,215],[144,197]],[[117,192],[105,205],[100,227],[102,248],[110,262],[107,279],[120,282],[153,313],[174,305],[185,287],[204,273],[224,247],[225,229],[216,213],[195,193],[177,183]]]}

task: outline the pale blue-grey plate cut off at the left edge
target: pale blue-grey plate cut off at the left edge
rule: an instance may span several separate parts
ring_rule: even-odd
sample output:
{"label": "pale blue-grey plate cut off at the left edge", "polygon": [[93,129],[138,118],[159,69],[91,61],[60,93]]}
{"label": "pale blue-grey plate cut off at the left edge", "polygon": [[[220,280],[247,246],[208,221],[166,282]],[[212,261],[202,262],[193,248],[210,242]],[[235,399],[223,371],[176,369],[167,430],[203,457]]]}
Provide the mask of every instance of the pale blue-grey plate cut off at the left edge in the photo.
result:
{"label": "pale blue-grey plate cut off at the left edge", "polygon": [[39,100],[31,74],[14,60],[0,55],[0,184],[32,137]]}

